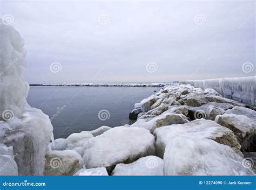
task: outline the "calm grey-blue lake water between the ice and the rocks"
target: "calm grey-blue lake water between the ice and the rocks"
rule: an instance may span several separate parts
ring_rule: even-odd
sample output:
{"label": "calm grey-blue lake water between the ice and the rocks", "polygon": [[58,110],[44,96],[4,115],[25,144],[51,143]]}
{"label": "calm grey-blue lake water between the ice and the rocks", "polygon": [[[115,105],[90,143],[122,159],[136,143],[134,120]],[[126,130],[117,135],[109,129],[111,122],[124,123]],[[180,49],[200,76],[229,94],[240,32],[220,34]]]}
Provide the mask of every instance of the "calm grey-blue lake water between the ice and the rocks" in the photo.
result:
{"label": "calm grey-blue lake water between the ice and the rocks", "polygon": [[[160,88],[31,86],[28,103],[49,115],[55,138],[99,126],[131,124],[129,112]],[[102,111],[103,110],[103,111]],[[101,112],[100,112],[101,111]],[[100,116],[99,112],[102,113]]]}

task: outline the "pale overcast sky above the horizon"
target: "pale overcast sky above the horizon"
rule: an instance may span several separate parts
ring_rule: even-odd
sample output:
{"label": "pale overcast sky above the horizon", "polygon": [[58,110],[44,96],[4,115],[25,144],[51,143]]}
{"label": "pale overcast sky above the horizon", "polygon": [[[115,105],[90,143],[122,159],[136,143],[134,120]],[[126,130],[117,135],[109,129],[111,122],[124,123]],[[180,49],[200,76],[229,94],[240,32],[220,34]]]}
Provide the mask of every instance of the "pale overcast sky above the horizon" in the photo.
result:
{"label": "pale overcast sky above the horizon", "polygon": [[[254,1],[2,1],[29,83],[255,75]],[[10,17],[10,16],[9,16]]]}

